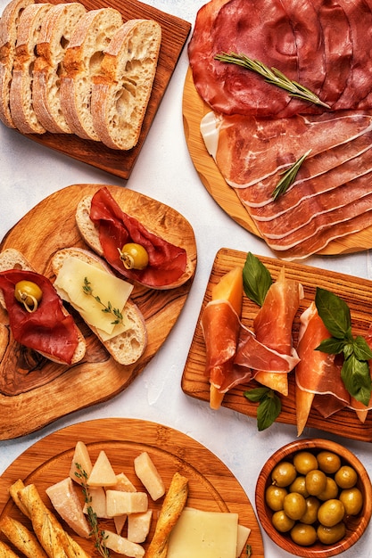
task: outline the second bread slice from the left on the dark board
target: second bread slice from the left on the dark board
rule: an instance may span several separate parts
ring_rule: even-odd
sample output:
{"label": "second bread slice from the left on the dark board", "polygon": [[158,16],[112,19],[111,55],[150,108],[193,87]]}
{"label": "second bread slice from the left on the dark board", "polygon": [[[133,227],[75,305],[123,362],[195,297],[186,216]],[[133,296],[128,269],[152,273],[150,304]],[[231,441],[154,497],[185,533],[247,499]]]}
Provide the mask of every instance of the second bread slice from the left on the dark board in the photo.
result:
{"label": "second bread slice from the left on the dark board", "polygon": [[44,134],[32,104],[32,69],[36,45],[46,13],[52,4],[30,4],[21,13],[10,93],[12,120],[22,134]]}

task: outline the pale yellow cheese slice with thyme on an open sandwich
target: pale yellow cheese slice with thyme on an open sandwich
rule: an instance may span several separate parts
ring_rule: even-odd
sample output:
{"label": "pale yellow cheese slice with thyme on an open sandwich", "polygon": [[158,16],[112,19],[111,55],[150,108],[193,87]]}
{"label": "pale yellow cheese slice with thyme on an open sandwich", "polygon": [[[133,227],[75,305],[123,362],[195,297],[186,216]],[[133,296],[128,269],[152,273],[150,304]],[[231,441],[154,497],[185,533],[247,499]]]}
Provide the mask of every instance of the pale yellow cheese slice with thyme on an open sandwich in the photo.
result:
{"label": "pale yellow cheese slice with thyme on an open sandwich", "polygon": [[[99,264],[97,264],[99,266]],[[89,282],[93,296],[86,294],[83,286]],[[89,325],[99,330],[103,341],[107,341],[128,328],[128,324],[113,324],[116,317],[104,308],[111,305],[121,313],[133,291],[133,285],[103,271],[101,267],[87,264],[70,256],[63,261],[54,282],[54,289],[62,300],[70,302]],[[100,303],[96,298],[99,298]]]}

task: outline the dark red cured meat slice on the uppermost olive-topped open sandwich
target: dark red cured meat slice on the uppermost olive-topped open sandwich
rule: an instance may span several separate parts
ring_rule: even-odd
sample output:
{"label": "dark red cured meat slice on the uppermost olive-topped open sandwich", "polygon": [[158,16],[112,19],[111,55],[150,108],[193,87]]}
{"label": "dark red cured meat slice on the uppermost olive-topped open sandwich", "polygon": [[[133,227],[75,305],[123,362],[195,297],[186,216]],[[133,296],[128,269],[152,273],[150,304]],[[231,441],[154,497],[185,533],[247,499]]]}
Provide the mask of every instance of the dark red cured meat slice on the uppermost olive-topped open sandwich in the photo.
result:
{"label": "dark red cured meat slice on the uppermost olive-topped open sandwich", "polygon": [[[106,187],[92,198],[90,218],[99,229],[104,257],[121,275],[150,287],[175,283],[186,270],[186,250],[148,231],[135,217],[120,209]],[[126,269],[119,250],[127,242],[144,246],[149,264],[144,270]]]}

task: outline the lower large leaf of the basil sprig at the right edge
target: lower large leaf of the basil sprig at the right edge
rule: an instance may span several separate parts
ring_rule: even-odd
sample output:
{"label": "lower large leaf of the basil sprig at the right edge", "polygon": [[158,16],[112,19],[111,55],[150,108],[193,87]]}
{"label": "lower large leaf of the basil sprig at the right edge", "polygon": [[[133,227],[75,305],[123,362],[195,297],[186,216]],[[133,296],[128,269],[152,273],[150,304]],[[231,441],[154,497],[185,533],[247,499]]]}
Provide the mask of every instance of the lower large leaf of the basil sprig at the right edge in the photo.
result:
{"label": "lower large leaf of the basil sprig at the right edge", "polygon": [[360,361],[354,355],[351,355],[343,362],[341,378],[351,397],[368,406],[372,390],[368,362]]}

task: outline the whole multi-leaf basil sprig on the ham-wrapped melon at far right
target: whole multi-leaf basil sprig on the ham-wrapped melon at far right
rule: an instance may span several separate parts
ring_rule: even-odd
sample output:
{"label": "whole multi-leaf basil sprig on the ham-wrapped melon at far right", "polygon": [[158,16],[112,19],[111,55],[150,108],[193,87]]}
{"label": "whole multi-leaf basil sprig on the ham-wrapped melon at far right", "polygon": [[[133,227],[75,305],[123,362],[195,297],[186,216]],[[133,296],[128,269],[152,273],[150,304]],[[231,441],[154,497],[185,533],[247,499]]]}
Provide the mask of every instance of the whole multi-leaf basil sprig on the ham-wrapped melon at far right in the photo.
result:
{"label": "whole multi-leaf basil sprig on the ham-wrapped melon at far right", "polygon": [[350,308],[344,300],[333,292],[318,287],[315,304],[318,315],[332,335],[322,341],[316,350],[329,355],[343,353],[344,361],[341,369],[343,384],[352,398],[368,406],[372,394],[368,360],[372,358],[372,350],[364,337],[352,336]]}

